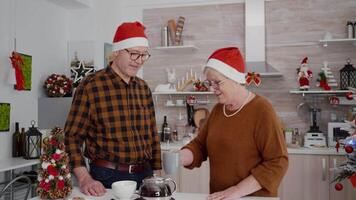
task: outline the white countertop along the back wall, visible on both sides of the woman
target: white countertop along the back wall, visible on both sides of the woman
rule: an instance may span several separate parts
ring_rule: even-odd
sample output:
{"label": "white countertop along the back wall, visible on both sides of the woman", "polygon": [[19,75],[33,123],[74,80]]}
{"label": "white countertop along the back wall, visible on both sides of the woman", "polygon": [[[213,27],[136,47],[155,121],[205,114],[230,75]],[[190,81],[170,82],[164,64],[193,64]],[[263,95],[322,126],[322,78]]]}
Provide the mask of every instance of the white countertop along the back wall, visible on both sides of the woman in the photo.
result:
{"label": "white countertop along the back wall, visible on both sides of the woman", "polygon": [[[173,143],[161,143],[161,149],[163,151],[169,151],[169,150],[179,150],[182,148],[183,142],[178,141],[178,142],[173,142]],[[300,147],[300,148],[287,148],[288,154],[307,154],[307,155],[346,155],[345,151],[340,148],[339,153],[336,152],[335,148],[305,148],[305,147]]]}

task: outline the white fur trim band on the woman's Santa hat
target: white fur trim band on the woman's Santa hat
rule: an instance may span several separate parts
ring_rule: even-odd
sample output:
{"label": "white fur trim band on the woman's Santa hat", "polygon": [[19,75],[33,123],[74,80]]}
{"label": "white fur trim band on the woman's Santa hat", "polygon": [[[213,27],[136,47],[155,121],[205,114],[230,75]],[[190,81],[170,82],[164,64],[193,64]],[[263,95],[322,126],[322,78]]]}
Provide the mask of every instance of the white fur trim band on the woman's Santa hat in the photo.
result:
{"label": "white fur trim band on the woman's Santa hat", "polygon": [[240,84],[245,84],[246,79],[245,79],[245,74],[237,71],[230,65],[214,58],[210,58],[206,65],[203,67],[203,71],[207,68],[212,68],[219,73],[223,74],[224,76],[228,77],[229,79],[236,81],[237,83]]}

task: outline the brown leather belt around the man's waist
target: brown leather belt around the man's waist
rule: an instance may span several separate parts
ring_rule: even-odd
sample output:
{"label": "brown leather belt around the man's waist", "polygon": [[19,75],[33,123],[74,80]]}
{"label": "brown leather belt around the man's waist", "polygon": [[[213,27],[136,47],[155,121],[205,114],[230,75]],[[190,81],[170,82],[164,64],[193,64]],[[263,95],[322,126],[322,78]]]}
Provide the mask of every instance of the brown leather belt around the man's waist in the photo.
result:
{"label": "brown leather belt around the man's waist", "polygon": [[96,159],[92,160],[91,164],[98,166],[98,167],[105,167],[109,169],[115,169],[123,172],[128,172],[128,173],[141,173],[145,171],[145,166],[147,164],[123,164],[123,163],[114,163],[110,162],[107,160],[101,160],[101,159]]}

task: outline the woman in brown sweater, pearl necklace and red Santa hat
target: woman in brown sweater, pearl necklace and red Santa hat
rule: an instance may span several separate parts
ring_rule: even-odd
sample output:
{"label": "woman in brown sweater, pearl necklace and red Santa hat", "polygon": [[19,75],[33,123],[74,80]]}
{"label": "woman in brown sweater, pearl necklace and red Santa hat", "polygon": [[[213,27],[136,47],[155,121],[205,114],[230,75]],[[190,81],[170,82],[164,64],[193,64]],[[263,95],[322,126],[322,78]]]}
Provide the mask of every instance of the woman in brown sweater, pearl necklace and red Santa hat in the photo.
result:
{"label": "woman in brown sweater, pearl necklace and red Santa hat", "polygon": [[277,196],[288,167],[283,129],[272,105],[246,89],[238,48],[215,51],[204,67],[218,98],[198,136],[180,150],[181,163],[200,167],[209,157],[209,199]]}

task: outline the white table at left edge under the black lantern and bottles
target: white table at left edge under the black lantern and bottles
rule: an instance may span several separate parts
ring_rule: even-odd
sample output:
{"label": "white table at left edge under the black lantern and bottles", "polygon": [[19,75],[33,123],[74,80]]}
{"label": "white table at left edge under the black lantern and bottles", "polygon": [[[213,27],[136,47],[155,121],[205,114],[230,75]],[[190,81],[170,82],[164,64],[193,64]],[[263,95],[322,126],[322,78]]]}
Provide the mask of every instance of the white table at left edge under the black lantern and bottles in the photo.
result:
{"label": "white table at left edge under the black lantern and bottles", "polygon": [[[26,160],[22,157],[19,158],[4,158],[0,160],[0,172],[5,173],[5,181],[11,181],[14,177],[15,169],[23,168],[23,167],[33,167],[39,164],[39,159]],[[13,190],[12,187],[9,188],[10,195],[9,199],[13,200]]]}

